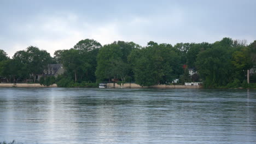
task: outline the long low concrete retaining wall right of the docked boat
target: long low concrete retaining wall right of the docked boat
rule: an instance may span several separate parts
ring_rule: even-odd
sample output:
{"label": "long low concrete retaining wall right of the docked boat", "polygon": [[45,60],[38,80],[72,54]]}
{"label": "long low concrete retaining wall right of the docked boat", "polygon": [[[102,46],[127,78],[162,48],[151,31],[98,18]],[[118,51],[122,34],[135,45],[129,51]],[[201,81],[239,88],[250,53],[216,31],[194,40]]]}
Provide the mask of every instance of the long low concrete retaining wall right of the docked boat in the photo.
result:
{"label": "long low concrete retaining wall right of the docked boat", "polygon": [[124,83],[118,85],[117,83],[107,83],[108,88],[202,88],[202,86],[185,86],[185,85],[154,85],[150,87],[142,87],[136,83]]}

